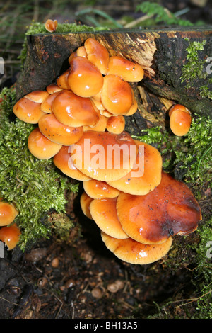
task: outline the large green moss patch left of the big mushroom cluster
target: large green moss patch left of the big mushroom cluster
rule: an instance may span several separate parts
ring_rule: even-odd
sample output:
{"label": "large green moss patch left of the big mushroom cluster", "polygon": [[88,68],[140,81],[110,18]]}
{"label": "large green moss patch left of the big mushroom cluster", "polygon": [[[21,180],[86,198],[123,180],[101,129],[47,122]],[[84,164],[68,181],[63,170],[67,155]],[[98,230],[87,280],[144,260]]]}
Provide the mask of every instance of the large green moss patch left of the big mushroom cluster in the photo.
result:
{"label": "large green moss patch left of the big mushroom cluster", "polygon": [[16,205],[19,214],[15,221],[22,230],[20,247],[25,249],[27,244],[51,235],[49,210],[64,213],[64,191],[76,192],[78,185],[72,185],[51,159],[40,160],[30,154],[28,135],[35,125],[13,115],[15,91],[5,88],[0,97],[0,193],[5,201]]}

